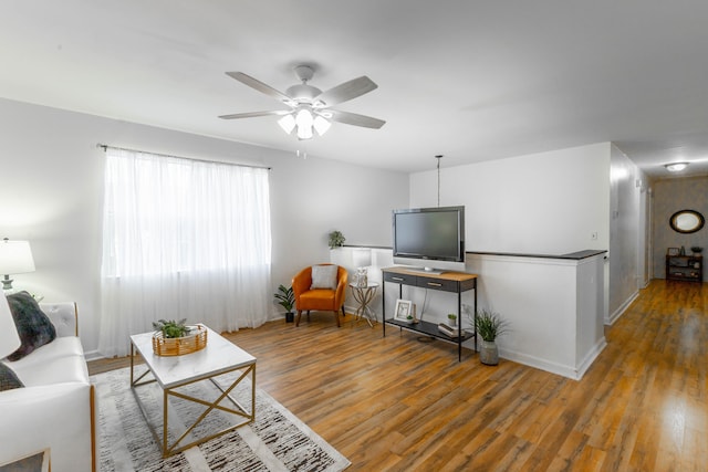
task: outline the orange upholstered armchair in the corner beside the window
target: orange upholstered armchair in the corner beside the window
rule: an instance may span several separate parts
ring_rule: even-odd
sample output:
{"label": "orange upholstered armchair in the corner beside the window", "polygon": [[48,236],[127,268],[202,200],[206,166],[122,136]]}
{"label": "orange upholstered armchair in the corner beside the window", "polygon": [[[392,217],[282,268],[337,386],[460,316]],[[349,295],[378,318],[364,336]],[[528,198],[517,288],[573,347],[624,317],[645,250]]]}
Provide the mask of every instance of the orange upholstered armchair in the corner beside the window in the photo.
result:
{"label": "orange upholstered armchair in the corner beside the window", "polygon": [[[327,268],[333,264],[317,265]],[[330,287],[313,287],[312,266],[303,269],[293,277],[292,291],[295,294],[295,310],[298,310],[295,326],[300,326],[302,312],[308,312],[308,321],[310,321],[311,310],[334,312],[336,325],[337,327],[340,326],[340,310],[342,311],[342,315],[346,315],[346,313],[344,313],[344,295],[348,274],[346,269],[342,266],[334,265],[334,268],[336,268],[336,277],[332,281],[332,286]]]}

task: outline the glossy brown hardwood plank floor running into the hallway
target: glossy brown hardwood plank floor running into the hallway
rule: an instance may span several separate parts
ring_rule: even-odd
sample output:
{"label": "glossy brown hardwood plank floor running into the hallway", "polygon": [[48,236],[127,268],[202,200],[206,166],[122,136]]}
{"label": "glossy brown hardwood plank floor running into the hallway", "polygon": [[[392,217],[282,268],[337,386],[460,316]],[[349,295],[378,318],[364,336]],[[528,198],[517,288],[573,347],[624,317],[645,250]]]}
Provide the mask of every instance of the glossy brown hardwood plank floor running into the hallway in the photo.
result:
{"label": "glossy brown hardwood plank floor running into the hallway", "polygon": [[[708,470],[708,284],[653,281],[581,381],[329,313],[229,334],[347,471]],[[90,363],[91,374],[128,365]]]}

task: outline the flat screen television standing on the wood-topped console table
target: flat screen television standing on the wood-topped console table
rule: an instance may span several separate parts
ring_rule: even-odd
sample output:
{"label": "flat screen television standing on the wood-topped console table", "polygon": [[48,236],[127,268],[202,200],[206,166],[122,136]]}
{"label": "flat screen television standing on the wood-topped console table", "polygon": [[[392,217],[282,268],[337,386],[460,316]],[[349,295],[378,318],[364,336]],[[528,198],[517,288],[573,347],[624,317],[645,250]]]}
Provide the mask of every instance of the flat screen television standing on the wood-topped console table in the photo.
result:
{"label": "flat screen television standing on the wood-topped console table", "polygon": [[396,264],[464,271],[465,207],[393,210],[393,239]]}

